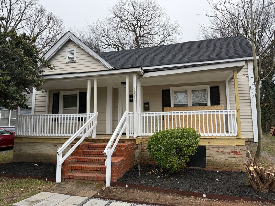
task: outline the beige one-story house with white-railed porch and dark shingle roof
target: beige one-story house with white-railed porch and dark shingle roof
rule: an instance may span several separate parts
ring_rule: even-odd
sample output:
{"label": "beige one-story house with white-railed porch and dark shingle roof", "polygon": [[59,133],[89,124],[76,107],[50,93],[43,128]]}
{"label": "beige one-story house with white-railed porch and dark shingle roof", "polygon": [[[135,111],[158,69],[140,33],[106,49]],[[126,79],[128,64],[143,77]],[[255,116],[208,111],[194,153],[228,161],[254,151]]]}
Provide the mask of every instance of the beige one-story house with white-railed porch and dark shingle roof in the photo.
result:
{"label": "beige one-story house with white-railed porch and dark shingle roof", "polygon": [[13,160],[56,162],[98,112],[84,141],[107,143],[125,121],[121,141],[134,143],[136,162],[154,163],[150,135],[188,126],[202,136],[189,166],[239,170],[258,141],[252,56],[241,36],[96,53],[67,32],[45,54],[56,70],[42,68],[46,92],[34,91],[32,115],[19,116]]}

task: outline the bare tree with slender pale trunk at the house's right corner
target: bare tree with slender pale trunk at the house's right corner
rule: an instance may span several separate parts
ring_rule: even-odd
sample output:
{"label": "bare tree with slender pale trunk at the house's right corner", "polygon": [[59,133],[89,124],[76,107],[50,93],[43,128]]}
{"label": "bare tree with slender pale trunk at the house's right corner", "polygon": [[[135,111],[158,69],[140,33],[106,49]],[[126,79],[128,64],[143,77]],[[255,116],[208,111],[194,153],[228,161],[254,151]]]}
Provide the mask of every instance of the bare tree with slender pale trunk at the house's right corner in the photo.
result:
{"label": "bare tree with slender pale trunk at the house's right corner", "polygon": [[[255,163],[259,164],[262,154],[262,126],[260,105],[260,82],[269,80],[274,70],[275,7],[273,0],[220,0],[208,1],[213,11],[205,15],[210,23],[203,25],[202,38],[242,35],[251,42],[254,61],[254,82],[256,88],[258,146]],[[272,54],[271,54],[271,53]],[[262,63],[271,56],[269,72],[262,72]],[[264,74],[264,75],[263,75]]]}

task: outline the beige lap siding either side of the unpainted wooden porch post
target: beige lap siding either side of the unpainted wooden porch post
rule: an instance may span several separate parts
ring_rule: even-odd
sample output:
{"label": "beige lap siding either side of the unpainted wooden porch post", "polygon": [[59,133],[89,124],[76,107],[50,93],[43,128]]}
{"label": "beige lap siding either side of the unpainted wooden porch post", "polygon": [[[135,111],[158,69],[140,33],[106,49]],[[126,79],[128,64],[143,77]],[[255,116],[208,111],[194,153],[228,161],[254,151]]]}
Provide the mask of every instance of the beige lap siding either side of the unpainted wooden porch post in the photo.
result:
{"label": "beige lap siding either side of the unpainted wooden porch post", "polygon": [[[249,87],[247,66],[241,69],[237,77],[238,77],[239,100],[240,100],[241,133],[242,133],[242,136],[245,138],[254,138],[251,101],[250,101],[250,87]],[[230,109],[236,109],[233,79],[230,79],[228,81],[228,86],[229,86]]]}

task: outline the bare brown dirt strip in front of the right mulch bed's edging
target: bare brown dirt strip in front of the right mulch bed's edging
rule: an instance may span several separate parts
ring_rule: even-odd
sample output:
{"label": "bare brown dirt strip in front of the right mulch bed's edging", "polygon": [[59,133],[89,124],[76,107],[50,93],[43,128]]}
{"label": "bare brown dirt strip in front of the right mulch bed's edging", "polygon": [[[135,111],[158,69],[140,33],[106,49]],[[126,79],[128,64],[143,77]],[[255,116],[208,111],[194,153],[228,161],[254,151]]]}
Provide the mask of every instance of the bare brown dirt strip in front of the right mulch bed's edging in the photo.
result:
{"label": "bare brown dirt strip in front of the right mulch bed's edging", "polygon": [[223,201],[223,200],[211,200],[211,199],[202,199],[194,196],[183,196],[178,194],[166,194],[166,193],[156,193],[146,190],[131,189],[131,188],[122,188],[122,187],[109,187],[102,188],[98,191],[94,197],[108,197],[132,201],[141,201],[141,202],[152,202],[160,204],[170,204],[170,205],[213,205],[213,206],[264,206],[264,205],[273,205],[262,202],[248,202],[243,200],[238,201]]}

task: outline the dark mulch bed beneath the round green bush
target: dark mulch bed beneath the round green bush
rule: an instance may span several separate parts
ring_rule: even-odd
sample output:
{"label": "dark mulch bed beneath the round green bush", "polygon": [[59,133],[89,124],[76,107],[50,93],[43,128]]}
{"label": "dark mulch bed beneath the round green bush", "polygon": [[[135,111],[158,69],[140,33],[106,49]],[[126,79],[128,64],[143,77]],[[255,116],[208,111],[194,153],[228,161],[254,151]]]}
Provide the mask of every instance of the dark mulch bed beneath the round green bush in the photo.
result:
{"label": "dark mulch bed beneath the round green bush", "polygon": [[199,193],[222,194],[239,197],[252,197],[275,200],[275,193],[256,192],[252,186],[246,186],[244,172],[211,171],[186,168],[177,174],[162,170],[160,166],[140,164],[141,181],[138,166],[130,169],[118,182],[150,187],[185,190]]}

